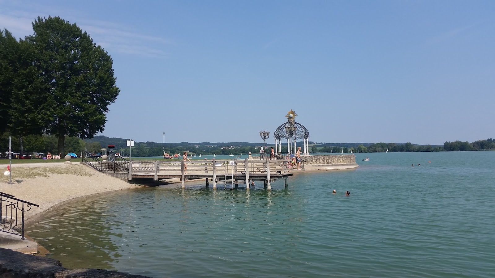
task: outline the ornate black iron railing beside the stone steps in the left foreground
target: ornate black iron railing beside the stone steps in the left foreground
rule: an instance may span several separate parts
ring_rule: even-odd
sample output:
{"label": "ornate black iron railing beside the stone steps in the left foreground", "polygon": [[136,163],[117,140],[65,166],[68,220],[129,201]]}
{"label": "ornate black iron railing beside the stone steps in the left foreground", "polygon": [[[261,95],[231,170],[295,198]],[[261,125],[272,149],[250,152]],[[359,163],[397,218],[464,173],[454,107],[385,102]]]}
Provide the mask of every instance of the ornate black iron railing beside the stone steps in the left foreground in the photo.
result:
{"label": "ornate black iron railing beside the stone steps in the left foreground", "polygon": [[0,192],[0,232],[20,235],[22,239],[25,239],[24,212],[30,210],[32,206],[39,207],[37,204],[17,199],[14,198],[13,195]]}

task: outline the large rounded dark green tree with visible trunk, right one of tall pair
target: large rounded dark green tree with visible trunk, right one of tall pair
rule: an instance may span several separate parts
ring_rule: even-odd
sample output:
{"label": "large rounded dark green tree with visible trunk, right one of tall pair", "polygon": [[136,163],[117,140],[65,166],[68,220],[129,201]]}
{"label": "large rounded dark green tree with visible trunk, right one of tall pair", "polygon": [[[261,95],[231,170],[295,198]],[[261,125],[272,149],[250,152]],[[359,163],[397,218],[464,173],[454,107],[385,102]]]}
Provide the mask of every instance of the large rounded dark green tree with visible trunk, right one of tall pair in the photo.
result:
{"label": "large rounded dark green tree with visible trunk, right one of tall pair", "polygon": [[108,105],[120,92],[113,61],[86,32],[60,17],[38,17],[33,30],[25,42],[37,54],[33,65],[44,85],[46,132],[58,138],[65,154],[65,135],[91,139],[103,131]]}

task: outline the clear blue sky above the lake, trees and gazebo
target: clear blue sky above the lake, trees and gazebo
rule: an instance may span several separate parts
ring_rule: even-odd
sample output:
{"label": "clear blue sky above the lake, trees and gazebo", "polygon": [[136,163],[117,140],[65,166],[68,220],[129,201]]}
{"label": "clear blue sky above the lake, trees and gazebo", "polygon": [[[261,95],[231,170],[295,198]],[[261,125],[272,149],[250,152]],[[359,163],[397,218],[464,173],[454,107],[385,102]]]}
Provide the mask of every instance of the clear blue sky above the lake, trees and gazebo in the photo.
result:
{"label": "clear blue sky above the lake, trees and gazebo", "polygon": [[0,0],[0,29],[38,16],[87,31],[120,94],[102,135],[262,142],[494,138],[495,1]]}

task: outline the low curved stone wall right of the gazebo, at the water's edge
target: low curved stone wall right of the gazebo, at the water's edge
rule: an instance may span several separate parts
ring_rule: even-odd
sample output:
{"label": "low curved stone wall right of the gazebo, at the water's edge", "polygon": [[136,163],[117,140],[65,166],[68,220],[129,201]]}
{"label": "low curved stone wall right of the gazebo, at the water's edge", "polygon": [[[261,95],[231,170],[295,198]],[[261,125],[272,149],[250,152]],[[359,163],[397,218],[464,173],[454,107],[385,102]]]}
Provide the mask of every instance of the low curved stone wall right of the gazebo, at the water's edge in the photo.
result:
{"label": "low curved stone wall right of the gazebo, at the water's edge", "polygon": [[340,170],[357,168],[356,157],[353,154],[305,155],[302,159],[307,170]]}

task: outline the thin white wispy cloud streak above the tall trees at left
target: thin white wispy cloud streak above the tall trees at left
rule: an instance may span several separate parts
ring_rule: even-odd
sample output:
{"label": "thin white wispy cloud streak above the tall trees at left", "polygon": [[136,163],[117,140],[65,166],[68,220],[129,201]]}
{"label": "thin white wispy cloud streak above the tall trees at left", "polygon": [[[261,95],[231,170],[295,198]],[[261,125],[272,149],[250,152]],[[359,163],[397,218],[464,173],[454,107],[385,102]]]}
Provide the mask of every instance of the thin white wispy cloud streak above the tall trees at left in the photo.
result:
{"label": "thin white wispy cloud streak above the tall trees at left", "polygon": [[[6,3],[4,3],[6,4]],[[50,12],[47,12],[47,11]],[[54,9],[36,6],[14,6],[0,10],[0,29],[9,30],[15,37],[24,37],[33,34],[31,23],[38,17],[48,17]],[[80,18],[70,16],[72,11],[56,11],[56,14],[65,14],[62,17],[71,23],[76,23],[83,31],[86,31],[93,41],[105,48],[110,54],[112,52],[142,55],[156,58],[166,58],[168,54],[163,50],[172,41],[160,36],[146,34],[143,30],[133,30],[115,22]]]}

